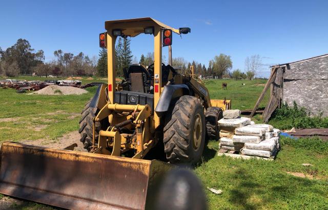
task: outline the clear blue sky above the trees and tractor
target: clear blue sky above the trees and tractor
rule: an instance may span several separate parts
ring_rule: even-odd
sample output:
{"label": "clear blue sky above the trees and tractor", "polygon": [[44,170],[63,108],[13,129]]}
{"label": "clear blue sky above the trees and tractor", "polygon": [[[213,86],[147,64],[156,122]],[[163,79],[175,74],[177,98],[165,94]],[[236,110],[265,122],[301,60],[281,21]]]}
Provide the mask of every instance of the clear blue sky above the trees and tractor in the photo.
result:
{"label": "clear blue sky above the trees and tractor", "polygon": [[[244,70],[248,56],[260,55],[258,76],[268,77],[270,65],[328,53],[328,1],[6,1],[0,0],[0,46],[18,38],[46,61],[61,49],[74,55],[99,53],[98,35],[105,21],[152,17],[191,33],[173,35],[172,55],[208,66],[214,56],[231,56],[233,68]],[[131,40],[133,55],[153,52],[151,35]],[[168,54],[168,48],[162,50]]]}

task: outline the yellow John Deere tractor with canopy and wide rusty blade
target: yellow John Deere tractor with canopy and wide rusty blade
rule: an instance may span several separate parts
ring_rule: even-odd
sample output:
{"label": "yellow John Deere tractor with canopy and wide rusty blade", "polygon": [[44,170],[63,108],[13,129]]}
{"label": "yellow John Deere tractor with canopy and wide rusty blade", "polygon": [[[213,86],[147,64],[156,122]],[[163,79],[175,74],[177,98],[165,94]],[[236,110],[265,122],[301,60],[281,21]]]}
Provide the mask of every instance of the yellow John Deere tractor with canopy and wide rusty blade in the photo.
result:
{"label": "yellow John Deere tractor with canopy and wide rusty blade", "polygon": [[[99,45],[108,52],[108,85],[82,112],[80,141],[88,152],[12,142],[1,147],[0,193],[70,209],[151,208],[156,183],[171,164],[195,164],[230,101],[210,100],[193,73],[162,63],[172,35],[188,34],[146,17],[105,22]],[[124,69],[115,83],[115,40],[154,37],[154,63]],[[171,53],[170,53],[171,55]],[[147,201],[147,202],[146,202]]]}

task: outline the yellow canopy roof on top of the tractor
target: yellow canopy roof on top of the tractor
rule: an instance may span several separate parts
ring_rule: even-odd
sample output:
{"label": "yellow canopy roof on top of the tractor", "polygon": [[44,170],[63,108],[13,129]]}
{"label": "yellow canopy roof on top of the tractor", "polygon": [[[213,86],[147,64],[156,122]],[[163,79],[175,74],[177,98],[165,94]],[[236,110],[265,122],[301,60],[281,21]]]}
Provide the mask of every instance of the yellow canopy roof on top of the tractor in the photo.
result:
{"label": "yellow canopy roof on top of the tractor", "polygon": [[144,33],[144,29],[147,27],[158,26],[163,29],[171,29],[174,33],[180,34],[179,29],[174,29],[151,17],[105,21],[106,30],[120,29],[124,35],[131,37]]}

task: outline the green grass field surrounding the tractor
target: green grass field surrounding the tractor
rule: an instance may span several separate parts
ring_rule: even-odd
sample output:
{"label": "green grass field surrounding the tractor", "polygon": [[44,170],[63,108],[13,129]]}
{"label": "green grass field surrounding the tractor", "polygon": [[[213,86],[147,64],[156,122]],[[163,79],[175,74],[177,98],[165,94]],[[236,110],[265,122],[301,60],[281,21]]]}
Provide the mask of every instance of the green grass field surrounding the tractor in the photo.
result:
{"label": "green grass field surrounding the tractor", "polygon": [[[22,79],[21,77],[19,79]],[[31,80],[31,78],[26,78]],[[94,78],[95,81],[99,81]],[[83,83],[92,80],[83,79]],[[227,82],[223,90],[221,83]],[[232,108],[254,106],[265,80],[204,81],[212,99],[232,100]],[[245,85],[242,85],[245,83]],[[56,139],[78,129],[79,113],[96,87],[80,96],[38,96],[0,89],[0,142],[22,139]],[[264,107],[268,96],[265,96]],[[257,118],[259,119],[259,118]],[[218,142],[210,142],[195,172],[206,191],[210,209],[328,209],[328,143],[319,139],[281,139],[275,161],[236,160],[216,156]],[[304,167],[301,164],[311,164]],[[298,173],[306,178],[288,174]],[[223,191],[215,195],[206,188]],[[49,209],[28,202],[15,209]]]}

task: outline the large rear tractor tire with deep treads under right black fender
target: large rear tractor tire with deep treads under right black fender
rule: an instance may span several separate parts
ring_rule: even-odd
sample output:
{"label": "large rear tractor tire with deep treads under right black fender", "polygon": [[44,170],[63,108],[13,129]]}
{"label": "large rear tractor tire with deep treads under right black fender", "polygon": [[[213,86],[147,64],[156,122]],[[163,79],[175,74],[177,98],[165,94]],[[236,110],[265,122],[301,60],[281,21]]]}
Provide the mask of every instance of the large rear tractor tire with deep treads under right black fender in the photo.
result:
{"label": "large rear tractor tire with deep treads under right black fender", "polygon": [[196,97],[182,96],[166,116],[163,143],[172,164],[195,165],[205,145],[204,108]]}

